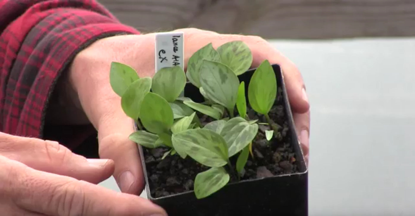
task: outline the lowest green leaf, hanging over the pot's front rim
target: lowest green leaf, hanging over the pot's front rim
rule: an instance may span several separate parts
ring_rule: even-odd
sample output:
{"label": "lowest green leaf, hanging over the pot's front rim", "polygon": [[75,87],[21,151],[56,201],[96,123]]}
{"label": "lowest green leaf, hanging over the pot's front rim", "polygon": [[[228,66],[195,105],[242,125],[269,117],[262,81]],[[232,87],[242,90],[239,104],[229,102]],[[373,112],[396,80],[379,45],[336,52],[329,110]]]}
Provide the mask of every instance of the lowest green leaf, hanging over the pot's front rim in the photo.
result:
{"label": "lowest green leaf, hanging over the pot's front rim", "polygon": [[228,184],[229,179],[230,176],[223,167],[212,167],[198,173],[194,184],[196,198],[210,196]]}

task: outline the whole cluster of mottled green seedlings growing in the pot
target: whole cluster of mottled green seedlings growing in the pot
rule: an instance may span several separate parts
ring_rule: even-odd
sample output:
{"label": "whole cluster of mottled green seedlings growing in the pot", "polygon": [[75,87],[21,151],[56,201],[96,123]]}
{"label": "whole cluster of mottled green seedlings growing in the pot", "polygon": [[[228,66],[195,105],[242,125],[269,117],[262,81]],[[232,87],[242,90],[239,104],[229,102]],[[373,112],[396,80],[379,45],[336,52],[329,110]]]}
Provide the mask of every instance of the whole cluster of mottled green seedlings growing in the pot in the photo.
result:
{"label": "whole cluster of mottled green seedlings growing in the pot", "polygon": [[[252,155],[259,122],[247,115],[245,83],[237,77],[251,64],[251,51],[241,41],[228,42],[217,50],[207,44],[190,57],[186,74],[181,67],[173,66],[157,71],[153,78],[139,78],[130,66],[112,62],[111,86],[121,97],[122,109],[139,128],[129,139],[146,148],[169,148],[163,159],[178,154],[211,167],[195,178],[198,199],[224,187],[230,174],[239,178],[249,152]],[[187,80],[199,88],[203,103],[180,97]],[[277,128],[268,115],[276,92],[276,76],[265,60],[254,72],[247,95],[251,108],[264,115],[265,124],[273,129],[266,131],[268,140]],[[198,114],[215,120],[203,126]],[[237,154],[233,165],[229,158]]]}

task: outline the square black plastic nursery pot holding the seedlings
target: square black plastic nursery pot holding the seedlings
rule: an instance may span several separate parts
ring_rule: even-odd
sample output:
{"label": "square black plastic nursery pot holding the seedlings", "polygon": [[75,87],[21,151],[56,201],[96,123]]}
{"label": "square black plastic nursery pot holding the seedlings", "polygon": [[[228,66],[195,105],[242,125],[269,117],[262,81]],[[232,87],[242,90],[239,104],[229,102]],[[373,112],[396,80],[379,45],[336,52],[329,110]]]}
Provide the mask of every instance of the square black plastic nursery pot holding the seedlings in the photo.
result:
{"label": "square black plastic nursery pot holding the seedlings", "polygon": [[[149,150],[145,150],[139,145],[148,199],[164,208],[169,216],[308,215],[308,169],[296,135],[281,68],[278,65],[273,65],[273,70],[277,78],[278,91],[282,90],[279,97],[282,97],[280,101],[282,100],[283,115],[285,115],[285,123],[288,125],[286,140],[289,140],[288,144],[291,149],[291,155],[294,155],[294,159],[292,160],[294,162],[291,166],[295,166],[295,172],[230,182],[219,191],[203,199],[197,199],[193,190],[154,197],[152,195],[154,194],[152,193],[154,191],[152,181],[158,181],[160,179],[152,179],[150,176],[151,173],[149,172],[149,164],[153,164],[151,165],[153,167],[158,167],[162,162],[160,161],[160,164],[157,164],[158,162],[154,160],[149,161],[148,157],[146,157],[149,154]],[[244,81],[246,85],[246,95],[249,80],[254,71],[255,69],[251,69],[238,76],[239,80]],[[200,94],[198,88],[191,83],[186,84],[184,94],[185,97],[191,98],[195,102],[203,101],[203,96]],[[276,166],[279,165],[276,164]],[[165,170],[168,170],[168,167]],[[159,174],[163,176],[164,174],[168,175],[168,172],[175,171],[170,170],[165,172],[159,172]],[[189,179],[191,179],[190,176]],[[167,182],[167,184],[169,183]]]}

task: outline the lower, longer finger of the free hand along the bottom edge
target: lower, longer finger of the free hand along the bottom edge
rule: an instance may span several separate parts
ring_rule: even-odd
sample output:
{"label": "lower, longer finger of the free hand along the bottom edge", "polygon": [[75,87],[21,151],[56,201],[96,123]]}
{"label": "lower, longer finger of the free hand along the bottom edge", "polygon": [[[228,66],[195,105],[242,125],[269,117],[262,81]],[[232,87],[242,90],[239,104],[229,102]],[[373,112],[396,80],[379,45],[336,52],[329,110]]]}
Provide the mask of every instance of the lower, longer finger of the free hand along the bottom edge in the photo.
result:
{"label": "lower, longer finger of the free hand along the bottom edge", "polygon": [[[54,216],[164,216],[165,211],[139,196],[122,194],[88,182],[34,170],[0,157],[8,187],[0,190],[17,207]],[[6,186],[2,184],[2,186]]]}

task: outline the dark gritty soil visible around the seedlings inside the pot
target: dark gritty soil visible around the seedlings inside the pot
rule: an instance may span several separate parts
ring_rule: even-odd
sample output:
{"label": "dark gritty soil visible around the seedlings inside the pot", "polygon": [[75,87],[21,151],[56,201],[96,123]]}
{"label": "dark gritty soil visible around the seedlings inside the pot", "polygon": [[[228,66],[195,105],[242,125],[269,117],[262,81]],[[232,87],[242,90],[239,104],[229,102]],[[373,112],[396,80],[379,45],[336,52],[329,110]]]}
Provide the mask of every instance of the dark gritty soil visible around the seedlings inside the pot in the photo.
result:
{"label": "dark gritty soil visible around the seedlings inside the pot", "polygon": [[[270,130],[269,125],[259,125],[259,133],[252,145],[254,157],[249,156],[241,180],[298,172],[298,167],[295,164],[296,155],[291,146],[291,131],[288,128],[288,119],[281,96],[282,89],[278,88],[277,92],[278,95],[269,116],[281,128],[276,133],[276,138],[268,141],[264,131]],[[259,119],[258,122],[266,123],[264,116],[257,115],[251,108],[248,108],[248,115],[251,120]],[[200,117],[204,124],[212,121],[206,116],[200,115]],[[164,160],[161,160],[164,152],[168,150],[167,148],[143,148],[143,150],[151,196],[154,198],[193,190],[193,181],[196,175],[209,169],[209,167],[195,162],[191,157],[182,159],[177,154],[168,155]],[[232,164],[236,163],[238,155],[231,158]],[[238,179],[231,175],[229,183],[237,181]]]}

